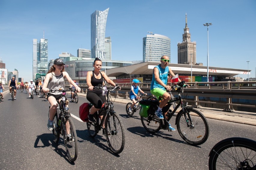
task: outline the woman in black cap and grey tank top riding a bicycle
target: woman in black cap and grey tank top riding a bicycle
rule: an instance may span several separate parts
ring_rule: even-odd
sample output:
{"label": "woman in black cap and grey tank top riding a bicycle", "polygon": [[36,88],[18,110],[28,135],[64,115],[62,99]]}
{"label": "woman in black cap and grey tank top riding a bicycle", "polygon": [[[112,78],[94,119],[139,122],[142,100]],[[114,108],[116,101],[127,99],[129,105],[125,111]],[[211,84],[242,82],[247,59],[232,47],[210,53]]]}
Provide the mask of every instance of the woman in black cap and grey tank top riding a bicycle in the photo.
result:
{"label": "woman in black cap and grey tank top riding a bicycle", "polygon": [[[75,86],[76,91],[80,91],[81,89],[78,87],[78,85],[75,84],[75,82],[72,81],[72,79],[69,77],[69,74],[64,71],[64,63],[62,59],[57,58],[54,60],[52,67],[47,72],[45,76],[45,81],[43,84],[42,91],[44,93],[47,93],[52,90],[59,90],[59,89],[65,89],[65,81],[66,78],[70,84]],[[47,94],[47,100],[50,103],[50,110],[49,110],[49,120],[47,123],[48,130],[53,130],[53,117],[56,113],[56,109],[58,106],[57,100],[60,100],[62,96],[61,91],[55,91],[50,92]]]}

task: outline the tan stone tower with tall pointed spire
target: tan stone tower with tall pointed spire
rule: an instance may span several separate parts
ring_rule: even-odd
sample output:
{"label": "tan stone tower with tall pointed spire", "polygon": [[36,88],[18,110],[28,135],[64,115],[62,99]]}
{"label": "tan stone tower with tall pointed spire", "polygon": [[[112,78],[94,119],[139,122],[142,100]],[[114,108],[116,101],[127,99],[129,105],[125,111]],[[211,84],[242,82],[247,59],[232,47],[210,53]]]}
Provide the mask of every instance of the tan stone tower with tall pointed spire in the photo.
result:
{"label": "tan stone tower with tall pointed spire", "polygon": [[182,42],[178,43],[178,64],[196,64],[196,42],[191,42],[189,28],[187,27],[187,13]]}

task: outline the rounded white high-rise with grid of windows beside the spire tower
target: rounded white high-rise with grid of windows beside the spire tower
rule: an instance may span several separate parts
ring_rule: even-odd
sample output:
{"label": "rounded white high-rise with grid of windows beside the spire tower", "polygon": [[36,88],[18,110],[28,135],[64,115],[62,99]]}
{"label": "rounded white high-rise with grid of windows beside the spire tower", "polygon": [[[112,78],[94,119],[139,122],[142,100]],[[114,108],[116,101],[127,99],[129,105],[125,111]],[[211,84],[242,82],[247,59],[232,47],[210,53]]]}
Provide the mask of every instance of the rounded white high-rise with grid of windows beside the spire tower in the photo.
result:
{"label": "rounded white high-rise with grid of windows beside the spire tower", "polygon": [[171,39],[160,34],[147,35],[143,38],[143,62],[160,61],[163,55],[171,57]]}

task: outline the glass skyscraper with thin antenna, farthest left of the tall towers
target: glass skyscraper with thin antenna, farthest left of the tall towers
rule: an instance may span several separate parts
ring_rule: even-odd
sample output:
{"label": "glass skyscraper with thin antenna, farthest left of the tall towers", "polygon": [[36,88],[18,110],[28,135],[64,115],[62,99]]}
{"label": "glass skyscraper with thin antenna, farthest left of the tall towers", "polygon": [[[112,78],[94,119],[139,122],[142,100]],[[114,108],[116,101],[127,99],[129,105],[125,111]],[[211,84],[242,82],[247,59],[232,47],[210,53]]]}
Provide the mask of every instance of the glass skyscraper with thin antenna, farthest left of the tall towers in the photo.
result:
{"label": "glass skyscraper with thin antenna, farthest left of the tall towers", "polygon": [[48,40],[41,38],[33,39],[33,77],[36,73],[46,74],[48,72]]}

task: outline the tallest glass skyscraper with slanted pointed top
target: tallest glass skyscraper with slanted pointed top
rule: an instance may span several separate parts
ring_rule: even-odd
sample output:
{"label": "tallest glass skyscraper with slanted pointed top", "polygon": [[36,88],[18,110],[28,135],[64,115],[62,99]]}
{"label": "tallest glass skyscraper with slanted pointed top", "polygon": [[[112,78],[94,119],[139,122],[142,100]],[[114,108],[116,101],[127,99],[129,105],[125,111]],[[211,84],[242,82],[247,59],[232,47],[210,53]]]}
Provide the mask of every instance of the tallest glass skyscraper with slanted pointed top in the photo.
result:
{"label": "tallest glass skyscraper with slanted pointed top", "polygon": [[91,58],[104,59],[108,10],[96,10],[91,14]]}

